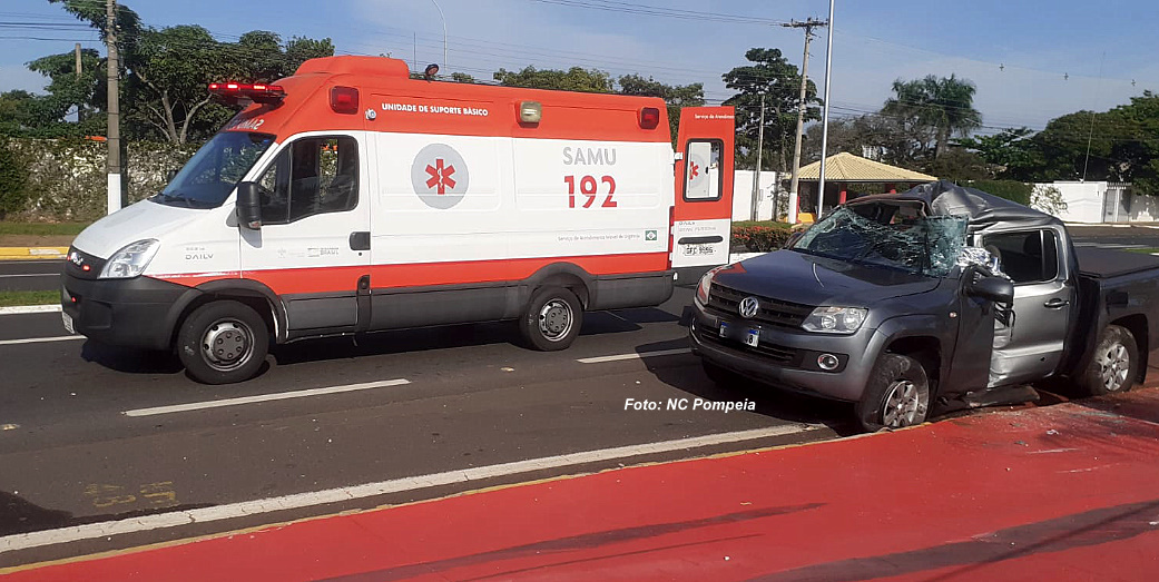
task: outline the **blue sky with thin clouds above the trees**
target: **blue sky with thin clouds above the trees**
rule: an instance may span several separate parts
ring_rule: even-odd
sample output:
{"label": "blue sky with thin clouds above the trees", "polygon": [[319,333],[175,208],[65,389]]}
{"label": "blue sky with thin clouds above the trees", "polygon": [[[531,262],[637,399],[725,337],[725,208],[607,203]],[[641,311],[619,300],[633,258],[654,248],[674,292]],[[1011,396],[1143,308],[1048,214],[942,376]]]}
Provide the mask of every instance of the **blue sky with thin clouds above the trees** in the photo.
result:
{"label": "blue sky with thin clouds above the trees", "polygon": [[[100,1],[100,0],[92,0]],[[876,111],[891,83],[955,74],[977,86],[979,133],[1041,130],[1079,110],[1107,110],[1159,92],[1154,0],[834,0],[831,116]],[[437,2],[437,3],[436,3]],[[490,79],[500,67],[582,66],[658,81],[704,82],[709,104],[731,92],[721,74],[755,46],[801,66],[803,34],[779,26],[824,20],[825,0],[130,0],[151,27],[198,24],[220,41],[249,30],[331,38],[340,54],[446,63],[443,73]],[[439,13],[442,8],[442,16]],[[42,92],[25,63],[82,46],[95,31],[48,0],[0,2],[0,92]],[[29,23],[32,23],[29,26]],[[50,24],[45,27],[44,24]],[[34,28],[35,27],[35,28]],[[829,30],[810,46],[809,75],[824,88]]]}

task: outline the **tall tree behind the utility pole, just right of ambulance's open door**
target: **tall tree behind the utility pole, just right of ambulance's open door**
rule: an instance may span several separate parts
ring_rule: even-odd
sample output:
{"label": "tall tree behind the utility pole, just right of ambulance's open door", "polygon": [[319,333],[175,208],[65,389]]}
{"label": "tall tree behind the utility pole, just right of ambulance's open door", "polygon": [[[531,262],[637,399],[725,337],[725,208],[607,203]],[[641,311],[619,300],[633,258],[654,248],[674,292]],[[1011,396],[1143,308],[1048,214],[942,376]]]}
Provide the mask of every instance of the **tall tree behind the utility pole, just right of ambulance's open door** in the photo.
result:
{"label": "tall tree behind the utility pole, just right of ambulance's open door", "polygon": [[[757,166],[757,140],[760,130],[760,97],[765,96],[765,151],[761,167],[775,160],[775,169],[788,169],[786,155],[794,141],[801,75],[797,67],[778,49],[749,49],[744,58],[752,65],[738,66],[722,75],[724,86],[737,93],[724,101],[736,108],[737,166]],[[821,118],[817,87],[806,88],[806,122]]]}

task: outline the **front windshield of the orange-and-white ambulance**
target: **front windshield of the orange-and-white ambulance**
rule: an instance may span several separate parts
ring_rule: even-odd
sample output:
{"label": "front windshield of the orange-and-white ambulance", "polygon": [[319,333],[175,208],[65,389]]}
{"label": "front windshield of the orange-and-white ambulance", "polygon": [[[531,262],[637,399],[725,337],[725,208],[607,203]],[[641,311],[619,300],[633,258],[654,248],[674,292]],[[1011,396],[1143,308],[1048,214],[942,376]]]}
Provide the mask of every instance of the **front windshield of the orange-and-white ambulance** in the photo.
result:
{"label": "front windshield of the orange-and-white ambulance", "polygon": [[150,199],[192,209],[220,206],[272,143],[269,133],[223,131],[194,154],[161,194]]}

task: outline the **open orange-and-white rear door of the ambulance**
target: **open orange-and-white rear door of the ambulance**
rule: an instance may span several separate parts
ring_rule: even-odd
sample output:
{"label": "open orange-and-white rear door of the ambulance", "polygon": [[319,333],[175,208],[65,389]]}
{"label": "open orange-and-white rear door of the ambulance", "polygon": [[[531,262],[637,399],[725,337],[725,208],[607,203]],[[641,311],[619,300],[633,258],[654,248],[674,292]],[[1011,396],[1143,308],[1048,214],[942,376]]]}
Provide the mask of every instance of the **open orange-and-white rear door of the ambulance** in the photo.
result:
{"label": "open orange-and-white rear door of the ambulance", "polygon": [[693,284],[728,262],[735,132],[731,107],[680,110],[671,245],[677,283]]}

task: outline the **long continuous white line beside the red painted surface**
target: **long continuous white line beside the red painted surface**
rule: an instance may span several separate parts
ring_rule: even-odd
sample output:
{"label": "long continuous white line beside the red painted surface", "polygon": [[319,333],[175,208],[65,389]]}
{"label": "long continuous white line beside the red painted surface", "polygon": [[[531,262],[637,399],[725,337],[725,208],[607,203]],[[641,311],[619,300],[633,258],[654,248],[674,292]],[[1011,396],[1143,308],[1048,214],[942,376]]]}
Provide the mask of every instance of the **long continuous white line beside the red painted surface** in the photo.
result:
{"label": "long continuous white line beside the red painted surface", "polygon": [[570,454],[557,454],[539,459],[520,460],[515,463],[503,463],[486,467],[461,468],[446,471],[443,473],[431,473],[420,476],[406,476],[379,481],[374,483],[357,485],[352,487],[340,487],[336,489],[325,489],[321,492],[298,493],[256,501],[243,501],[240,503],[228,503],[185,511],[173,511],[169,514],[147,515],[118,519],[114,522],[90,523],[85,525],[73,525],[57,530],[36,531],[31,533],[17,533],[0,538],[0,553],[31,547],[51,546],[56,544],[67,544],[82,539],[104,538],[119,536],[122,533],[133,533],[141,531],[160,530],[165,528],[176,528],[191,523],[217,522],[234,517],[246,517],[271,511],[286,509],[299,509],[314,505],[323,505],[342,501],[373,497],[391,493],[410,492],[440,487],[445,485],[465,483],[481,479],[508,476],[532,471],[584,465],[588,463],[600,463],[615,459],[626,459],[642,454],[654,454],[662,452],[680,451],[700,446],[712,446],[728,443],[741,443],[758,438],[795,435],[808,432],[822,428],[822,424],[785,424],[765,429],[742,430],[737,432],[723,432],[716,435],[705,435],[699,437],[678,438],[676,441],[662,441],[658,443],[647,443],[629,446],[617,446],[614,449],[603,449],[598,451],[576,452]]}

